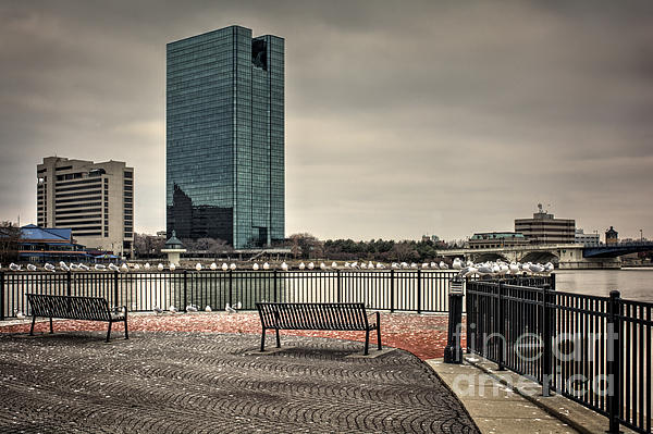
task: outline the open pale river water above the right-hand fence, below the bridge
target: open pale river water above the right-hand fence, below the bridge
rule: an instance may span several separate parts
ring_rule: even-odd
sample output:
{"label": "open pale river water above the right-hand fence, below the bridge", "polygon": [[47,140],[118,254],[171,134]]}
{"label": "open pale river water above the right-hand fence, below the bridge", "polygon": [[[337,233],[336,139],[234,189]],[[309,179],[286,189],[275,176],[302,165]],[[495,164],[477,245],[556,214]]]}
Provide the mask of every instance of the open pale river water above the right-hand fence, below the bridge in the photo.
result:
{"label": "open pale river water above the right-hand fence, below the bridge", "polygon": [[653,268],[621,270],[556,270],[556,289],[608,297],[618,289],[621,298],[653,302]]}

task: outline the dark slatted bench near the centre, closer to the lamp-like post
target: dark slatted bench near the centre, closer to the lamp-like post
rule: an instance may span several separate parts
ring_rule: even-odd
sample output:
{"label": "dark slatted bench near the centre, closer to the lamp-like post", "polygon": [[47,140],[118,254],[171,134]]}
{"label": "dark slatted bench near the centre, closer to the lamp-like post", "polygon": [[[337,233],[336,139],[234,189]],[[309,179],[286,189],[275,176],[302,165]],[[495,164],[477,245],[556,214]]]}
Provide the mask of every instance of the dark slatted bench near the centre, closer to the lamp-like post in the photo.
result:
{"label": "dark slatted bench near the centre, closer to the lamp-like post", "polygon": [[[266,331],[276,332],[276,348],[281,348],[280,330],[330,330],[365,332],[365,355],[368,355],[370,332],[377,331],[377,345],[381,349],[381,322],[366,314],[361,302],[257,302],[263,328],[261,351],[266,350]],[[374,321],[375,320],[375,321]]]}

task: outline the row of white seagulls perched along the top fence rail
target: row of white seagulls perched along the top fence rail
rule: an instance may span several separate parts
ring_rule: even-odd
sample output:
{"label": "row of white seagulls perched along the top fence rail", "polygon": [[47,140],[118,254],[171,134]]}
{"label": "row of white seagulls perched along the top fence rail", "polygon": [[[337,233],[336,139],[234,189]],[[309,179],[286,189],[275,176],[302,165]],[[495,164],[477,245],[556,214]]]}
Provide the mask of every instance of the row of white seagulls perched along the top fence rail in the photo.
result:
{"label": "row of white seagulls perched along the top fence rail", "polygon": [[[127,272],[130,270],[135,270],[135,271],[139,271],[140,270],[140,264],[134,264],[132,266],[127,265],[126,263],[122,263],[120,266],[114,264],[114,263],[110,263],[108,265],[104,264],[100,264],[97,263],[93,266],[93,270],[95,271],[113,271],[113,272]],[[59,262],[59,265],[56,266],[51,263],[46,263],[44,264],[42,269],[45,271],[50,271],[50,272],[56,272],[57,270],[60,271],[90,271],[91,268],[87,264],[84,263],[66,263],[66,262]],[[143,265],[143,270],[145,271],[149,271],[153,269],[152,265],[150,265],[150,263],[146,263],[145,265]],[[170,270],[170,271],[174,271],[176,269],[175,264],[170,263],[168,265],[163,265],[162,263],[159,263],[156,269],[158,271],[163,271],[165,269]],[[237,266],[235,263],[231,263],[227,264],[226,262],[223,262],[221,266],[219,266],[215,262],[211,263],[210,265],[206,266],[202,265],[201,263],[197,263],[195,265],[195,270],[196,271],[202,271],[202,270],[212,270],[212,271],[217,271],[217,270],[222,270],[222,271],[234,271],[236,270]],[[270,265],[268,262],[264,262],[263,264],[259,265],[257,262],[255,262],[251,265],[251,270],[254,271],[258,271],[258,270],[272,270],[272,265]],[[331,262],[330,265],[325,264],[324,262],[320,262],[318,265],[316,265],[316,263],[313,262],[309,262],[308,264],[305,264],[304,262],[300,262],[299,265],[297,265],[297,270],[340,270],[340,269],[344,269],[344,270],[386,270],[387,266],[381,262],[372,262],[372,261],[356,261],[356,262],[345,262],[344,264],[338,265],[337,262]],[[551,262],[547,262],[545,264],[540,264],[540,263],[532,263],[532,262],[526,262],[526,263],[520,263],[520,262],[510,262],[510,263],[506,263],[503,261],[496,261],[496,262],[481,262],[481,263],[473,263],[472,261],[467,261],[464,262],[461,259],[456,258],[454,259],[454,261],[452,262],[451,266],[445,263],[444,261],[440,261],[440,263],[438,262],[423,262],[421,264],[411,262],[392,262],[390,264],[390,269],[392,270],[457,270],[458,271],[458,275],[460,276],[472,276],[472,275],[479,275],[479,276],[485,276],[485,275],[491,275],[491,276],[502,276],[502,275],[507,275],[507,274],[549,274],[553,271],[554,265]],[[0,270],[1,270],[1,265],[0,265]],[[38,268],[32,263],[28,263],[25,268],[25,270],[23,270],[23,266],[21,264],[16,264],[16,263],[11,263],[9,265],[9,270],[10,271],[38,271]],[[291,266],[286,263],[286,262],[282,262],[281,265],[279,265],[279,270],[281,271],[288,271],[291,270]]]}

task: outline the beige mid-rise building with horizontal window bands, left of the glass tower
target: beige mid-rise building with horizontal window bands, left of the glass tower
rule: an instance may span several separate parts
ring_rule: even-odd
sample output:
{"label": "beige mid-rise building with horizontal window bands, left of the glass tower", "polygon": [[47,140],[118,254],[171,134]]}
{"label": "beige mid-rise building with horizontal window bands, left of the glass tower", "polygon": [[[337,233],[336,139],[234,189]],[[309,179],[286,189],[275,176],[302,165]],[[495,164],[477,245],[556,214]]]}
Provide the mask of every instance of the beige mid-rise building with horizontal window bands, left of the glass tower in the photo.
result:
{"label": "beige mid-rise building with horizontal window bands, left of the glass tower", "polygon": [[40,227],[71,227],[88,249],[131,253],[134,241],[134,169],[124,162],[48,157],[36,168]]}

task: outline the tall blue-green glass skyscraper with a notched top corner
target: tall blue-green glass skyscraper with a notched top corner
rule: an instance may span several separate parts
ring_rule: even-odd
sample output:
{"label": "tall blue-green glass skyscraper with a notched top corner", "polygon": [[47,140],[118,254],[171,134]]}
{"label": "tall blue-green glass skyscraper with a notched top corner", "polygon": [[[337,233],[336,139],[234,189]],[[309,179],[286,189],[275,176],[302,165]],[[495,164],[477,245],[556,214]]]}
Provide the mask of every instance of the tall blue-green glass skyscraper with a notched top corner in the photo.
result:
{"label": "tall blue-green glass skyscraper with a notched top corner", "polygon": [[231,26],[167,47],[167,231],[284,238],[284,40]]}

